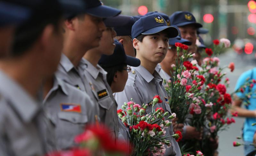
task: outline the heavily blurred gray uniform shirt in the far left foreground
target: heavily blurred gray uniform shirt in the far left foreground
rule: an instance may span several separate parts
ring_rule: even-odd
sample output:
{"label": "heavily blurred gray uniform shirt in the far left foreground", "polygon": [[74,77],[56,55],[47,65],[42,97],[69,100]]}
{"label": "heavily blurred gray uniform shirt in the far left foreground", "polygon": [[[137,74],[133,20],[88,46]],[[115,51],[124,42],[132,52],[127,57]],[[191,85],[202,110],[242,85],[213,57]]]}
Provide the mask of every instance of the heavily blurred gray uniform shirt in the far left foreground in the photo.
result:
{"label": "heavily blurred gray uniform shirt in the far left foreground", "polygon": [[0,82],[1,156],[43,155],[44,144],[40,129],[44,124],[42,104],[2,71]]}

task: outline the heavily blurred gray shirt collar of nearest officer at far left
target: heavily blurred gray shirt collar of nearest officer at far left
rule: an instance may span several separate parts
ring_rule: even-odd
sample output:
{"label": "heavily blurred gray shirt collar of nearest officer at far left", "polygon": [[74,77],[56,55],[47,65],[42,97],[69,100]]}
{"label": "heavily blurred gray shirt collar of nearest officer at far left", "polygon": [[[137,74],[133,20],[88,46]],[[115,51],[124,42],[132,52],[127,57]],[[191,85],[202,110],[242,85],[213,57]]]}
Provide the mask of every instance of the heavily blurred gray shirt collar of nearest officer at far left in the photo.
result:
{"label": "heavily blurred gray shirt collar of nearest officer at far left", "polygon": [[39,102],[1,70],[0,82],[1,94],[11,103],[24,122],[30,122],[41,109]]}

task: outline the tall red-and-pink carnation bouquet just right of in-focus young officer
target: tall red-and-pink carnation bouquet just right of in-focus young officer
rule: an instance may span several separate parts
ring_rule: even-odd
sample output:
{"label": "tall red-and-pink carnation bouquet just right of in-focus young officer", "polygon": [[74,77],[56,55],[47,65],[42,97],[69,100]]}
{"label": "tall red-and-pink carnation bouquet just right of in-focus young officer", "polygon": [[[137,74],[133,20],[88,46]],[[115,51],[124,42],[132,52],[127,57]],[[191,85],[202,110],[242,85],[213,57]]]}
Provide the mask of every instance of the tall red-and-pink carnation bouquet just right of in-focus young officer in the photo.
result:
{"label": "tall red-and-pink carnation bouquet just right of in-focus young officer", "polygon": [[[204,123],[204,113],[201,109],[203,92],[201,92],[204,84],[204,77],[198,75],[196,62],[187,61],[195,54],[188,53],[188,46],[181,43],[175,43],[177,47],[177,55],[175,65],[173,64],[172,80],[165,82],[165,90],[169,96],[169,104],[171,110],[178,116],[178,123],[184,123],[189,113],[195,114],[198,118],[195,123],[200,129]],[[180,56],[180,53],[183,53]]]}

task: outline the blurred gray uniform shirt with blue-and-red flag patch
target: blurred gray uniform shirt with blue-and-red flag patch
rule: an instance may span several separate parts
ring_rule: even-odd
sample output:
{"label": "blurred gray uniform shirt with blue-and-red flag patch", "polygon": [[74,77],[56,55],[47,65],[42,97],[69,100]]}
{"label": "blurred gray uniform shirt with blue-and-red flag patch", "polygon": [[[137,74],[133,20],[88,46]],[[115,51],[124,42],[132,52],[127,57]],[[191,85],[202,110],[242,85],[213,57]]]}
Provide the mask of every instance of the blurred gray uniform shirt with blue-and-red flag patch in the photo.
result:
{"label": "blurred gray uniform shirt with blue-and-red flag patch", "polygon": [[[91,98],[58,78],[54,79],[53,87],[44,99],[47,116],[54,125],[55,138],[47,142],[55,142],[57,150],[76,146],[75,136],[84,132],[85,125],[95,122],[96,110]],[[51,151],[52,145],[47,144]]]}

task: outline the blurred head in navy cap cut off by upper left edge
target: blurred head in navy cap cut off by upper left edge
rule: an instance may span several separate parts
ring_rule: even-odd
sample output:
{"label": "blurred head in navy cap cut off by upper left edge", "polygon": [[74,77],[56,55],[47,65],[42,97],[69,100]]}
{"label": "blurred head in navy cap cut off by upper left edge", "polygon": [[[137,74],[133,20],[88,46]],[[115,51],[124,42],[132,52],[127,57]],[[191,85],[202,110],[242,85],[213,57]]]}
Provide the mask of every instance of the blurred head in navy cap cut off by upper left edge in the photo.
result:
{"label": "blurred head in navy cap cut off by upper left edge", "polygon": [[15,27],[29,17],[30,11],[25,6],[1,1],[0,15],[0,57],[3,57],[10,51]]}

